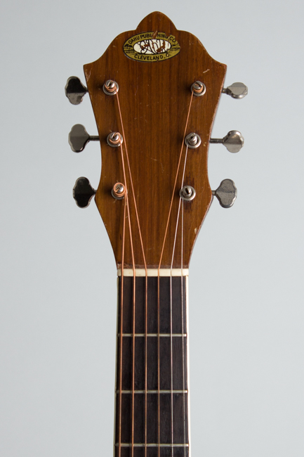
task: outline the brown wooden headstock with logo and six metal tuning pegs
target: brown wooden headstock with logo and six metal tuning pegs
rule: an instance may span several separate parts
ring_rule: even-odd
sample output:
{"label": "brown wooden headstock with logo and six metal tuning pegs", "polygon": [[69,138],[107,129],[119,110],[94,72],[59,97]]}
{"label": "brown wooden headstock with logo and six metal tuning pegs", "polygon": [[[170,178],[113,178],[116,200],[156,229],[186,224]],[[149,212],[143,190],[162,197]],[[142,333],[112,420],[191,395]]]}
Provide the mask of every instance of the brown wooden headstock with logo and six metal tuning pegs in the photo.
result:
{"label": "brown wooden headstock with logo and six metal tuning pegs", "polygon": [[225,72],[199,39],[155,12],[84,65],[87,89],[67,80],[71,103],[88,91],[98,127],[90,136],[74,126],[70,146],[80,152],[100,141],[102,151],[97,190],[80,178],[74,198],[86,207],[95,195],[118,268],[187,268],[213,195],[232,206],[233,181],[211,191],[207,169],[209,143],[232,153],[244,143],[238,131],[211,139],[221,94],[247,94],[242,83],[223,89]]}

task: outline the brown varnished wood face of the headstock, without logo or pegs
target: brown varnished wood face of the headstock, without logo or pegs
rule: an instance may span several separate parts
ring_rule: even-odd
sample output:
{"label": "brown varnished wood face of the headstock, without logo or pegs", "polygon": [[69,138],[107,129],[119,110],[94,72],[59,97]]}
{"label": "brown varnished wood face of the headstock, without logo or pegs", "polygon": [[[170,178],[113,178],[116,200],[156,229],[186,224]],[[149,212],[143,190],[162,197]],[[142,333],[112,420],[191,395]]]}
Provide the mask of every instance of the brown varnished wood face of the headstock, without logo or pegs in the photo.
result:
{"label": "brown varnished wood face of the headstock, without logo or pegs", "polygon": [[[176,37],[180,44],[180,52],[176,56],[164,61],[142,62],[131,60],[124,54],[123,46],[128,38],[141,32],[156,31]],[[184,184],[190,184],[197,192],[192,202],[184,204],[183,267],[187,268],[199,228],[212,200],[207,173],[208,147],[225,70],[226,66],[213,60],[199,39],[188,32],[176,30],[171,20],[159,12],[147,15],[136,30],[119,34],[102,57],[84,65],[102,150],[102,170],[95,202],[107,228],[117,266],[121,266],[125,201],[114,200],[111,189],[116,182],[124,183],[124,174],[120,149],[107,146],[106,138],[111,131],[122,133],[122,129],[117,97],[105,95],[103,84],[107,79],[114,79],[119,84],[119,102],[145,259],[150,268],[159,266],[190,104],[190,88],[197,80],[206,84],[206,94],[192,99],[186,131],[186,134],[194,131],[201,136],[201,146],[188,150],[185,168]],[[184,146],[161,268],[171,266],[185,150]],[[126,163],[125,153],[124,148]],[[135,264],[136,267],[143,268],[143,253],[128,173],[126,184]],[[131,267],[133,262],[127,220],[125,239],[124,266]],[[179,224],[173,268],[180,268],[180,264]]]}

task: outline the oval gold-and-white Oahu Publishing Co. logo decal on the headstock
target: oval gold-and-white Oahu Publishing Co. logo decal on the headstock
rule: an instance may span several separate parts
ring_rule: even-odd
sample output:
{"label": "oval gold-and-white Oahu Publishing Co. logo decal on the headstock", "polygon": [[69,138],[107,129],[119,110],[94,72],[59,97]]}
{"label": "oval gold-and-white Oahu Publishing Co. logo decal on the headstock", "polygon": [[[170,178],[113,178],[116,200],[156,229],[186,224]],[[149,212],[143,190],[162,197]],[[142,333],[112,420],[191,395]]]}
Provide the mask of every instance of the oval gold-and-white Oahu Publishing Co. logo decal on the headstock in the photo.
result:
{"label": "oval gold-and-white Oahu Publishing Co. logo decal on the headstock", "polygon": [[166,36],[163,32],[144,32],[128,38],[124,44],[124,53],[128,58],[140,62],[159,62],[168,60],[180,52],[176,37]]}

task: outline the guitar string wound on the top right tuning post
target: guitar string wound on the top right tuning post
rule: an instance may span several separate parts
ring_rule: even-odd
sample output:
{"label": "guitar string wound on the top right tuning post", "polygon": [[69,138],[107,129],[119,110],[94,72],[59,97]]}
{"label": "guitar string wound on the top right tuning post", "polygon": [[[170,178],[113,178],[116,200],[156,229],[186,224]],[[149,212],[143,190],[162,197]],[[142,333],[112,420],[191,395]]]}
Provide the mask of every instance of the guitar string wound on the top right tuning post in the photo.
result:
{"label": "guitar string wound on the top right tuning post", "polygon": [[[166,243],[166,235],[167,235],[167,231],[168,231],[168,224],[169,224],[169,221],[170,221],[170,217],[171,217],[171,210],[172,210],[172,205],[173,205],[173,198],[174,198],[174,193],[176,191],[176,182],[178,180],[178,174],[179,174],[179,171],[180,171],[180,160],[181,160],[181,157],[182,157],[182,154],[183,154],[183,146],[184,146],[184,141],[185,141],[185,136],[186,136],[186,131],[187,131],[187,125],[188,125],[188,121],[189,121],[189,116],[190,116],[190,109],[191,109],[191,105],[192,105],[192,98],[193,98],[193,91],[191,93],[191,98],[190,98],[190,103],[189,103],[189,108],[188,108],[188,112],[187,112],[187,120],[186,120],[186,124],[185,124],[185,131],[184,131],[184,135],[183,135],[183,142],[182,142],[182,146],[180,148],[180,156],[179,156],[179,159],[178,159],[178,169],[177,169],[177,172],[176,172],[176,179],[174,181],[174,186],[173,186],[173,193],[172,193],[172,197],[171,197],[171,203],[170,203],[170,207],[169,207],[169,212],[168,212],[168,220],[167,220],[167,223],[166,223],[166,231],[165,231],[165,234],[164,234],[164,242],[163,242],[163,245],[161,247],[161,257],[159,259],[159,266],[158,266],[158,271],[157,271],[157,406],[158,406],[158,457],[160,457],[160,337],[159,337],[159,334],[160,334],[160,297],[159,297],[159,285],[160,285],[160,267],[161,267],[161,260],[162,260],[162,257],[163,257],[163,253],[164,253],[164,245]],[[172,429],[171,429],[172,430]],[[171,431],[172,433],[172,431]],[[173,444],[173,442],[172,442]],[[172,449],[173,449],[173,446],[172,446]]]}

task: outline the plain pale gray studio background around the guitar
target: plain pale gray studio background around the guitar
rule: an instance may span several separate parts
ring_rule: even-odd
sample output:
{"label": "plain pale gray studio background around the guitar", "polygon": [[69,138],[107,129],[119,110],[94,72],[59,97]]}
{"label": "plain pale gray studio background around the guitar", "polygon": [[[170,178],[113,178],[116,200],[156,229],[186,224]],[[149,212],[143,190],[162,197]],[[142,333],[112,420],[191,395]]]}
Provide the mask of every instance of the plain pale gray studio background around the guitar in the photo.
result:
{"label": "plain pale gray studio background around the guitar", "polygon": [[215,200],[190,266],[192,456],[303,457],[303,13],[301,1],[17,1],[1,6],[1,407],[3,457],[112,456],[116,269],[94,202],[100,148],[74,154],[73,124],[96,134],[84,82],[120,32],[152,11],[226,63],[211,145]]}

